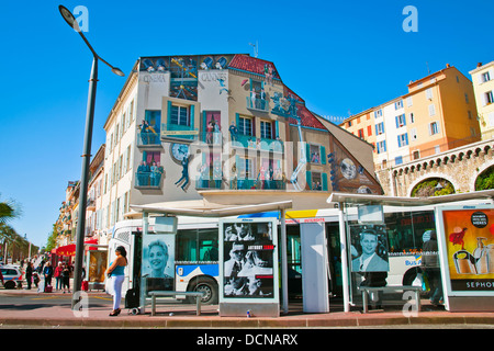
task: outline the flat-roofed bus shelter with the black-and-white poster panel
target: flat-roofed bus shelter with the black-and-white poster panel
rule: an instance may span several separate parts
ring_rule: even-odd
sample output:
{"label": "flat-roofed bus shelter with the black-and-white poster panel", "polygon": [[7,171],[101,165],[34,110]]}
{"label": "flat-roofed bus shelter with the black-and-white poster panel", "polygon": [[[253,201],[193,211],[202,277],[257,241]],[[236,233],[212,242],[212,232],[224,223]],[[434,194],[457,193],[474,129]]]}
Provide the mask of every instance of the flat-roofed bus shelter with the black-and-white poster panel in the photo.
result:
{"label": "flat-roofed bus shelter with the black-and-white poster panel", "polygon": [[[150,205],[131,205],[131,208],[137,213],[142,213],[143,216],[143,238],[147,237],[148,234],[148,226],[149,226],[149,216],[150,215],[161,215],[165,217],[165,219],[170,218],[171,220],[164,220],[164,231],[162,233],[169,233],[173,234],[173,231],[177,231],[177,216],[188,216],[188,217],[212,217],[212,218],[227,218],[227,217],[234,217],[234,216],[240,216],[240,215],[247,215],[247,214],[256,214],[256,213],[269,213],[269,212],[279,212],[280,213],[280,240],[276,240],[276,238],[271,238],[271,241],[263,240],[260,245],[260,249],[257,251],[267,251],[270,250],[273,253],[271,253],[273,261],[271,262],[271,271],[269,271],[269,267],[263,267],[262,270],[266,274],[261,274],[262,279],[267,282],[271,283],[271,286],[268,288],[265,288],[265,297],[269,294],[266,294],[266,291],[271,290],[273,294],[269,295],[270,298],[268,298],[271,304],[263,304],[266,302],[266,298],[250,298],[247,303],[246,299],[242,301],[242,298],[234,298],[228,303],[228,301],[225,302],[224,307],[225,314],[235,314],[239,313],[238,305],[242,305],[244,310],[245,308],[252,308],[258,307],[256,303],[260,303],[262,305],[261,309],[257,310],[257,315],[261,315],[263,312],[262,309],[269,309],[267,312],[268,315],[274,315],[279,314],[280,307],[279,307],[279,301],[278,301],[278,248],[274,251],[274,247],[278,246],[278,242],[280,242],[280,250],[281,250],[281,301],[282,301],[282,312],[288,313],[288,267],[287,267],[287,228],[285,228],[285,212],[288,208],[292,207],[292,201],[280,201],[280,202],[271,202],[271,203],[258,203],[258,204],[247,204],[247,205],[224,205],[224,204],[215,204],[204,201],[189,201],[189,202],[175,202],[175,203],[161,203],[161,204],[150,204]],[[251,222],[252,227],[256,228],[256,233],[265,233],[265,236],[269,236],[269,233],[272,233],[271,230],[277,229],[276,222],[274,225],[270,225],[269,228],[267,228],[266,224],[267,222],[260,222],[260,220],[252,220]],[[242,219],[235,219],[232,223],[238,223],[242,222]],[[227,223],[227,222],[225,222]],[[229,224],[229,223],[227,223]],[[269,225],[269,223],[268,223]],[[266,230],[269,229],[269,230]],[[227,237],[227,227],[225,228],[221,227],[221,235],[223,237]],[[143,239],[144,240],[144,239]],[[238,244],[235,244],[237,240],[220,240],[221,248],[225,246],[225,248],[229,248],[232,250],[235,249],[235,246],[238,246]],[[244,245],[250,245],[254,246],[255,249],[258,248],[258,242],[251,241],[244,241],[240,244]],[[268,259],[265,260],[269,261]],[[221,262],[222,269],[227,269],[227,262]],[[266,263],[265,263],[266,265]],[[269,271],[269,272],[268,272]],[[259,276],[259,274],[257,274]],[[225,285],[226,286],[226,285]],[[226,288],[226,287],[225,287]],[[146,304],[146,297],[142,294],[142,309],[144,308]],[[259,297],[259,295],[258,295]],[[144,299],[143,299],[144,298]],[[274,299],[277,299],[274,302]],[[222,302],[221,302],[222,303]],[[237,304],[237,307],[235,307],[235,303]],[[229,307],[234,306],[234,307]],[[222,304],[221,304],[222,309]],[[143,310],[142,310],[143,312]]]}

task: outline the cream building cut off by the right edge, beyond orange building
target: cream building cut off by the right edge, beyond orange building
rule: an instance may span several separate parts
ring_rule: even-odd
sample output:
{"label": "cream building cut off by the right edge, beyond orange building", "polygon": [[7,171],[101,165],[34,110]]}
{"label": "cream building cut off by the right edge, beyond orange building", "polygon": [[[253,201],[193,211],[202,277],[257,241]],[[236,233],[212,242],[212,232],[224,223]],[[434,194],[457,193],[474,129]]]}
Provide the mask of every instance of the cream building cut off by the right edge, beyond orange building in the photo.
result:
{"label": "cream building cut off by the right edge, beyond orange building", "polygon": [[494,61],[486,65],[481,63],[470,71],[473,91],[475,93],[479,122],[482,139],[494,137]]}

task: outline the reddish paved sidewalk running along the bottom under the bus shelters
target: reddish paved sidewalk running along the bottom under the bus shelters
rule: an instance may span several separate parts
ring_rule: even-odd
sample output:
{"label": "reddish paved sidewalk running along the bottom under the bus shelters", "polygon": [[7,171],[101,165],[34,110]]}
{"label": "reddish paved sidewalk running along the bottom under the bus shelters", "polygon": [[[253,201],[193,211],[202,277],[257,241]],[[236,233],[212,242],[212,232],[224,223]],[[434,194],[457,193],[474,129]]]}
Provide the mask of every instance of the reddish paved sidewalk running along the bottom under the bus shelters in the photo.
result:
{"label": "reddish paved sidewalk running along the bottom under the bus shelters", "polygon": [[[59,292],[45,294],[36,290],[0,288],[2,296],[29,294],[33,298],[53,298],[67,296]],[[2,328],[20,327],[68,327],[68,328],[494,328],[494,313],[450,313],[430,310],[433,306],[424,301],[422,312],[416,316],[405,316],[400,308],[384,309],[362,314],[360,310],[340,312],[330,307],[327,314],[306,314],[300,304],[291,304],[288,315],[277,318],[220,317],[217,305],[202,306],[201,316],[195,315],[194,304],[159,304],[157,315],[150,316],[150,306],[144,315],[132,315],[122,309],[117,317],[110,317],[111,296],[104,292],[89,292],[93,298],[101,298],[104,304],[96,304],[81,313],[71,310],[69,304],[26,306],[2,306],[0,325]],[[37,297],[36,297],[37,296]],[[71,296],[71,295],[70,295]],[[123,305],[123,301],[122,301]]]}

